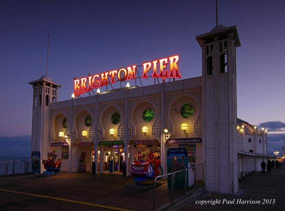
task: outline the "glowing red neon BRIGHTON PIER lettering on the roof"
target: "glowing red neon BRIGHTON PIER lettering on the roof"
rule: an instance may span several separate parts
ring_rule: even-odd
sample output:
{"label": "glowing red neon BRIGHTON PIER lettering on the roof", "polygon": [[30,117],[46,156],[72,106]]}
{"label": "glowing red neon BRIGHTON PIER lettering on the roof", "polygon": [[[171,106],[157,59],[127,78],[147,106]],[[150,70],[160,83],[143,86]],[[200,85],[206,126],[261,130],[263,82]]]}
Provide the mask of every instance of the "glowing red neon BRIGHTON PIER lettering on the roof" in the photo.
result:
{"label": "glowing red neon BRIGHTON PIER lettering on the roof", "polygon": [[[169,56],[168,58],[160,58],[153,60],[152,62],[144,62],[142,78],[147,78],[147,72],[152,67],[152,78],[156,77],[169,77],[169,78],[181,78],[179,73],[177,62],[179,61],[178,55]],[[169,63],[169,70],[166,69],[166,64]],[[157,70],[158,65],[158,70]],[[92,88],[98,88],[109,83],[108,77],[111,77],[110,83],[116,82],[115,75],[119,81],[125,79],[135,79],[136,65],[127,66],[126,68],[114,69],[108,72],[102,72],[100,74],[89,75],[88,77],[81,77],[80,79],[74,79],[74,96],[90,91]]]}

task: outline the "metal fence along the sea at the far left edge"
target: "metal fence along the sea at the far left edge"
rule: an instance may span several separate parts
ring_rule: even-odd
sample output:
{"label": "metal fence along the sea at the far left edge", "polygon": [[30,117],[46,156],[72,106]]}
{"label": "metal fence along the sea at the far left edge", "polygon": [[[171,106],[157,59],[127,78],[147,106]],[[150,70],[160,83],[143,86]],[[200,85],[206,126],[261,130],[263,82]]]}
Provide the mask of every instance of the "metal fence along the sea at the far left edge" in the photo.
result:
{"label": "metal fence along the sea at the far left edge", "polygon": [[31,160],[0,161],[0,175],[31,172]]}

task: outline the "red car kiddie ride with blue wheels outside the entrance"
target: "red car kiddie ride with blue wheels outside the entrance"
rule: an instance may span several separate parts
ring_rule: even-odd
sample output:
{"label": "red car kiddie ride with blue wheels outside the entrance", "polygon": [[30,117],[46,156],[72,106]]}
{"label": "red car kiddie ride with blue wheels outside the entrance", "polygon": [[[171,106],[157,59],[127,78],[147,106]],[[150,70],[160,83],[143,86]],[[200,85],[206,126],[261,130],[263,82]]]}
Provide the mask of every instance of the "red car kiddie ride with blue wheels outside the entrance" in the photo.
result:
{"label": "red car kiddie ride with blue wheels outside the entrance", "polygon": [[153,183],[155,176],[162,175],[160,159],[156,159],[154,154],[143,154],[137,160],[131,163],[131,175],[134,177],[133,181],[143,181],[141,183]]}

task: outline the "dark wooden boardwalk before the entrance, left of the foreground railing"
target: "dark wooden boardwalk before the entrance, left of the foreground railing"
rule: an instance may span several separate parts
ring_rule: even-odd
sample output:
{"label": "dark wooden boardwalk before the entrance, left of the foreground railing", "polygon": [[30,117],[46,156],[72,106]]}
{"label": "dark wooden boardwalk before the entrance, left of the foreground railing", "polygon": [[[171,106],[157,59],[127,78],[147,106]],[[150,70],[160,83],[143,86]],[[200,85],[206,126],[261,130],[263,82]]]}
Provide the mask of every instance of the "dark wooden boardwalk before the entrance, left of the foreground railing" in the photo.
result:
{"label": "dark wooden boardwalk before the entrance, left of the foreground railing", "polygon": [[[171,200],[167,179],[159,182],[162,184],[156,187],[155,208]],[[131,183],[133,177],[121,173],[4,176],[0,177],[0,210],[153,210],[153,188],[124,188]],[[173,199],[183,194],[184,187],[174,187]]]}

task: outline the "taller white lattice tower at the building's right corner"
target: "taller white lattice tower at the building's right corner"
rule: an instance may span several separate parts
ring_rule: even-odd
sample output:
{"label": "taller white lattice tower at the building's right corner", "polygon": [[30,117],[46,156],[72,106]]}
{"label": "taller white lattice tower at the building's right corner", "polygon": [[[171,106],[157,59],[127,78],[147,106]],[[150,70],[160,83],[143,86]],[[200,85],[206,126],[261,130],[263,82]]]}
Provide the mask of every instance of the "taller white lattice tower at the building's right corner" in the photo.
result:
{"label": "taller white lattice tower at the building's right corner", "polygon": [[196,36],[202,47],[202,139],[207,191],[238,190],[235,25]]}

